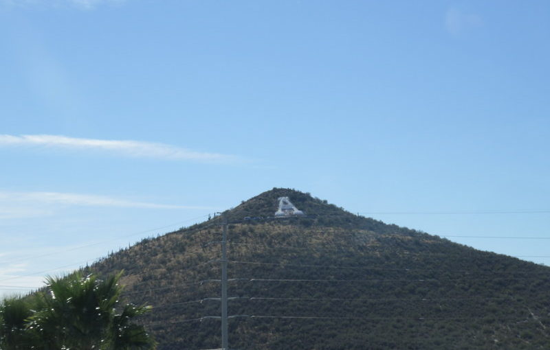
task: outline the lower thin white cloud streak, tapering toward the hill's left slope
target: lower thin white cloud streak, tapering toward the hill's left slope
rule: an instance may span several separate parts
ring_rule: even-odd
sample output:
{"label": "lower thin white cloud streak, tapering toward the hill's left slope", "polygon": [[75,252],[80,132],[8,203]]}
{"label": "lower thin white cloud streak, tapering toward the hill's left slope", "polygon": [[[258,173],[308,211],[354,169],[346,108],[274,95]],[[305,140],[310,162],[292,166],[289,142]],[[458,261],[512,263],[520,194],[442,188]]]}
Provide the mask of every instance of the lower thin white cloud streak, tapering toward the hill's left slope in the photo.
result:
{"label": "lower thin white cloud streak, tapering toward the hill's left slope", "polygon": [[28,203],[33,206],[39,204],[47,205],[72,205],[72,206],[91,206],[91,207],[120,207],[120,208],[145,208],[145,209],[212,209],[210,207],[197,207],[188,205],[164,205],[150,202],[139,202],[133,200],[124,200],[109,196],[96,196],[91,194],[71,194],[61,192],[2,192],[0,191],[0,205],[2,203],[10,203],[15,206],[14,211],[0,206],[0,218],[4,214],[6,216],[23,215],[25,213],[32,215],[40,213],[40,209],[30,207],[28,211],[17,209],[17,206]]}

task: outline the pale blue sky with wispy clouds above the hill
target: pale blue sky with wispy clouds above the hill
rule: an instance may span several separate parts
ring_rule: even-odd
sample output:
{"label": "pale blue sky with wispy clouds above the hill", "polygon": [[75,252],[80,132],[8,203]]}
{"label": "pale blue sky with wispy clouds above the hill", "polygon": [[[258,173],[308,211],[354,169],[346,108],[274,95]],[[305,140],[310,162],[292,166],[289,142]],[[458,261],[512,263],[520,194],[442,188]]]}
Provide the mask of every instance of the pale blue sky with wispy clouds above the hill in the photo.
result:
{"label": "pale blue sky with wispy clouds above the hill", "polygon": [[550,264],[547,1],[0,0],[0,33],[0,293],[272,187]]}

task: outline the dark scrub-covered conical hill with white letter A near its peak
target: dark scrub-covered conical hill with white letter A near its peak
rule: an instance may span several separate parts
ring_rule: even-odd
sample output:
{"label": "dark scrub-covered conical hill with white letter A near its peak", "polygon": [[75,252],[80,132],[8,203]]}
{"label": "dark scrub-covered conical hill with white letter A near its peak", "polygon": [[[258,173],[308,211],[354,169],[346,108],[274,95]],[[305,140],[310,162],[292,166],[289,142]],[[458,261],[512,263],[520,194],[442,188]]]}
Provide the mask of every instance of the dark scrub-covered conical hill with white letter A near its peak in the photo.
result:
{"label": "dark scrub-covered conical hill with white letter A near its peak", "polygon": [[[288,197],[303,216],[275,218]],[[201,224],[143,240],[88,272],[125,270],[153,305],[159,349],[220,347],[228,220],[230,348],[549,349],[550,269],[272,189]]]}

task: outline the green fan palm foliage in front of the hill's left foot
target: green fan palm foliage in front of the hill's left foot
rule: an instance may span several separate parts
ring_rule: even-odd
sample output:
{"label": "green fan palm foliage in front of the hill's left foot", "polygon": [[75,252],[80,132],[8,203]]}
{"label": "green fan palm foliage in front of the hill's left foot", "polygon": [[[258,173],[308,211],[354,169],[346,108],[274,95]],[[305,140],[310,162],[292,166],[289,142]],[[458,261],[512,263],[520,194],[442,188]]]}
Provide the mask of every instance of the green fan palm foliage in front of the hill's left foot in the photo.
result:
{"label": "green fan palm foliage in front of the hill's left foot", "polygon": [[[122,287],[118,284],[121,275],[104,281],[79,272],[65,278],[48,277],[45,291],[32,296],[36,311],[28,304],[17,304],[23,303],[22,299],[3,303],[2,325],[11,328],[0,333],[0,341],[5,343],[0,349],[155,349],[144,327],[131,323],[150,308],[122,305]],[[8,324],[5,310],[14,309],[12,305],[16,304],[21,308],[20,316]],[[18,347],[22,340],[26,346]]]}

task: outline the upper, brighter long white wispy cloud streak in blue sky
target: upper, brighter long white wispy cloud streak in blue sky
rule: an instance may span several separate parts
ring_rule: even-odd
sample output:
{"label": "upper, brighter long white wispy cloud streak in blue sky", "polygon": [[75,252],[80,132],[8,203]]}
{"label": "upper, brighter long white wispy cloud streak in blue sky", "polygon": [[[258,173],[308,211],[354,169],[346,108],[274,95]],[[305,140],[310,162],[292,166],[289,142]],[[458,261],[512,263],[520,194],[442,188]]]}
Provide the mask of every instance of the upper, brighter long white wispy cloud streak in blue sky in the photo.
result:
{"label": "upper, brighter long white wispy cloud streak in blue sky", "polygon": [[120,156],[196,161],[201,163],[241,163],[243,159],[230,154],[197,152],[165,143],[129,140],[80,139],[61,135],[0,135],[1,146],[42,146],[69,150],[98,150]]}

